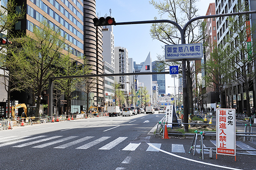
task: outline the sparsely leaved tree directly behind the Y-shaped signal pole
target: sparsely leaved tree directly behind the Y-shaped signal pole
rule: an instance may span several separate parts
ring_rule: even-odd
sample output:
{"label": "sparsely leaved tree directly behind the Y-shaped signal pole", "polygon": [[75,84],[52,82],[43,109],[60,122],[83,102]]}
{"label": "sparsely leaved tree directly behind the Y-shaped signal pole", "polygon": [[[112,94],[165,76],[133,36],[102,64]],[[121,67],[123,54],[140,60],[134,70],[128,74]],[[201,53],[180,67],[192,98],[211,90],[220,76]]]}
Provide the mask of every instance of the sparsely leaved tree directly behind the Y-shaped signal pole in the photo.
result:
{"label": "sparsely leaved tree directly behind the Y-shaped signal pole", "polygon": [[[160,3],[157,3],[154,0],[151,0],[150,3],[158,10],[160,17],[167,15],[167,17],[179,24],[181,27],[191,20],[192,18],[198,17],[195,3],[198,0],[162,0]],[[178,16],[181,17],[179,18]],[[154,18],[157,20],[157,17]],[[195,33],[195,28],[201,28],[203,26],[200,20],[192,22],[186,29],[185,39],[186,43],[197,43],[202,40],[203,34],[200,32],[198,35]],[[160,40],[166,45],[169,44],[180,44],[181,37],[178,29],[169,23],[154,23],[151,26],[150,34],[153,39]],[[164,59],[160,57],[159,59]],[[162,60],[163,63],[166,63]],[[168,65],[168,63],[166,63]],[[188,102],[189,102],[189,113],[193,114],[193,96],[192,96],[192,79],[190,71],[190,63],[187,61],[186,66],[186,78],[187,78],[187,90],[188,90]],[[186,103],[184,103],[186,104]],[[188,121],[188,120],[187,120]],[[185,130],[188,131],[188,127],[185,126]]]}

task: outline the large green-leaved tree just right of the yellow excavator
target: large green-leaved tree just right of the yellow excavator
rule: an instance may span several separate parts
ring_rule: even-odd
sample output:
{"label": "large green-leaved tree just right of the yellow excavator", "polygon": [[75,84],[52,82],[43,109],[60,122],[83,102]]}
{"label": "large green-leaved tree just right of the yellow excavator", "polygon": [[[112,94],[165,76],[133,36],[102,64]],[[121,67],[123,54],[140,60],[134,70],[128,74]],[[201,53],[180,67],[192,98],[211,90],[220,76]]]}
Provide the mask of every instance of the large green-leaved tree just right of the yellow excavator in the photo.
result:
{"label": "large green-leaved tree just right of the yellow excavator", "polygon": [[12,58],[19,64],[15,77],[35,92],[36,113],[39,116],[41,93],[48,87],[48,79],[64,67],[63,49],[66,48],[60,29],[54,29],[44,18],[39,27],[33,27],[33,34],[14,40],[20,44],[12,47]]}

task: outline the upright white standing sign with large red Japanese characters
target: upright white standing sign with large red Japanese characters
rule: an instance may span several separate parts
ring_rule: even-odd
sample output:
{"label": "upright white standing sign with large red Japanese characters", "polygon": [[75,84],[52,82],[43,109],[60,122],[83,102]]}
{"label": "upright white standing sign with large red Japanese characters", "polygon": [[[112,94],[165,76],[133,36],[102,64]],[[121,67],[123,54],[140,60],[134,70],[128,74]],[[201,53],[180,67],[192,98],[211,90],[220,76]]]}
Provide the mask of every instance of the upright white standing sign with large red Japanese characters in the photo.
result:
{"label": "upright white standing sign with large red Japanese characters", "polygon": [[236,110],[216,111],[216,152],[236,156]]}

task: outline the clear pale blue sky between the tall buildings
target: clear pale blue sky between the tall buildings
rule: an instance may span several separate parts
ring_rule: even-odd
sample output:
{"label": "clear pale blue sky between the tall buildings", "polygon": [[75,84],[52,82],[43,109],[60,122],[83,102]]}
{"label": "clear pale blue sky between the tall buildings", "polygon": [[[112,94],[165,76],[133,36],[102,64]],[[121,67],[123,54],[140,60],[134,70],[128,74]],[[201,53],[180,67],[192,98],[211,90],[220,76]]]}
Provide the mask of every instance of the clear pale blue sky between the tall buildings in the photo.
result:
{"label": "clear pale blue sky between the tall buildings", "polygon": [[[159,2],[159,0],[156,1]],[[209,3],[214,2],[215,0],[198,0],[199,16],[204,16]],[[110,8],[111,16],[115,18],[116,23],[154,20],[154,17],[160,19],[157,9],[149,3],[149,0],[96,0],[98,17],[110,16]],[[127,48],[128,57],[133,58],[137,64],[144,62],[149,52],[152,62],[157,60],[157,54],[164,54],[162,47],[165,44],[151,38],[150,28],[151,24],[113,26],[115,46]],[[175,85],[178,85],[177,80]],[[174,86],[173,78],[169,74],[166,74],[166,94],[174,94],[174,88],[167,88],[167,86]]]}

